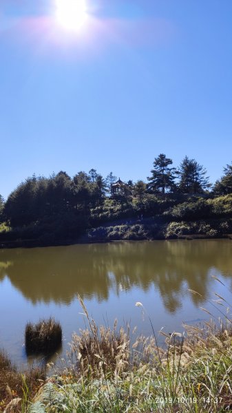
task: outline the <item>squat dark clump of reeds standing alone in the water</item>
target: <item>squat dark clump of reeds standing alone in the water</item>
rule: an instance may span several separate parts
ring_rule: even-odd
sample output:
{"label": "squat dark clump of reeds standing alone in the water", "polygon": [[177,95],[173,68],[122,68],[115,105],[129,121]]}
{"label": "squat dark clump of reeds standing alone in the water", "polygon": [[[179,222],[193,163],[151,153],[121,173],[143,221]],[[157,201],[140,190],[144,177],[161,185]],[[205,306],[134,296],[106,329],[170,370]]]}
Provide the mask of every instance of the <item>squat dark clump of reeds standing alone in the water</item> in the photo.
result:
{"label": "squat dark clump of reeds standing alone in the water", "polygon": [[25,327],[25,350],[27,354],[50,354],[61,346],[62,328],[58,321],[50,318]]}

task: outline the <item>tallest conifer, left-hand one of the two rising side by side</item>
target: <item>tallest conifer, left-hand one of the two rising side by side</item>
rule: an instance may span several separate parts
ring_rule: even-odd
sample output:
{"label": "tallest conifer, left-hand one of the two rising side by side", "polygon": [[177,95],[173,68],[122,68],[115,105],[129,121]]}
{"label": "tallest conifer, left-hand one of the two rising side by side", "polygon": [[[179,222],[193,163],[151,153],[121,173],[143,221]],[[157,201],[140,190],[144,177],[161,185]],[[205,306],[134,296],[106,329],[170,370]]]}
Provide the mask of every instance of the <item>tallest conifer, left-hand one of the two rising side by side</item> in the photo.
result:
{"label": "tallest conifer, left-hand one of the two rising side by side", "polygon": [[167,158],[164,153],[160,153],[158,158],[155,158],[153,165],[154,169],[151,170],[152,176],[148,177],[148,187],[151,191],[166,192],[173,191],[175,188],[176,169],[169,167],[173,162],[170,158]]}

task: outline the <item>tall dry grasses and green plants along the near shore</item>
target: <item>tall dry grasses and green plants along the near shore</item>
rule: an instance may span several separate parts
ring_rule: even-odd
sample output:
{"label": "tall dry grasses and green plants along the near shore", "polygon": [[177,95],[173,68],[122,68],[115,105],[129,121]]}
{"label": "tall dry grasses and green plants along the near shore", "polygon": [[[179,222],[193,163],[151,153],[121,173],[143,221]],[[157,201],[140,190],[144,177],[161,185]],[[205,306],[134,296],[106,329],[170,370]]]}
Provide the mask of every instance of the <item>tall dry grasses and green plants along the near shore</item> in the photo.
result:
{"label": "tall dry grasses and green plants along the near shore", "polygon": [[[6,412],[203,413],[231,409],[229,317],[225,315],[224,325],[210,321],[184,326],[186,335],[160,332],[166,338],[166,346],[160,348],[152,324],[152,337],[138,337],[133,342],[129,327],[118,330],[115,323],[112,330],[98,328],[79,299],[88,328],[73,336],[70,354],[52,377],[44,381],[41,374],[34,380],[33,375],[28,383],[1,353],[5,366],[0,396]],[[143,304],[136,306],[145,312]]]}

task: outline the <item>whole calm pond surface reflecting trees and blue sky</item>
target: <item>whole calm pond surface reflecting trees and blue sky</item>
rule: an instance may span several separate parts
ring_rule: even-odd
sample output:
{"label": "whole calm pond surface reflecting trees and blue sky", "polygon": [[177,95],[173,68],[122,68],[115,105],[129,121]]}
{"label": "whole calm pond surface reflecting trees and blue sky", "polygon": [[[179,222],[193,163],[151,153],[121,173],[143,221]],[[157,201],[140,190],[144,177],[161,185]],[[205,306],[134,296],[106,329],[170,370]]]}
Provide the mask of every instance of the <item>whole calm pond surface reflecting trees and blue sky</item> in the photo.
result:
{"label": "whole calm pond surface reflecting trees and blue sky", "polygon": [[[129,322],[137,334],[151,335],[147,314],[156,332],[182,332],[183,322],[209,319],[200,307],[219,317],[210,304],[218,298],[214,292],[230,302],[231,290],[231,240],[0,250],[0,348],[16,363],[25,363],[25,324],[52,316],[63,328],[60,355],[65,355],[72,333],[86,323],[77,294],[98,325],[112,326],[117,318],[118,325]],[[145,306],[144,317],[136,301]]]}

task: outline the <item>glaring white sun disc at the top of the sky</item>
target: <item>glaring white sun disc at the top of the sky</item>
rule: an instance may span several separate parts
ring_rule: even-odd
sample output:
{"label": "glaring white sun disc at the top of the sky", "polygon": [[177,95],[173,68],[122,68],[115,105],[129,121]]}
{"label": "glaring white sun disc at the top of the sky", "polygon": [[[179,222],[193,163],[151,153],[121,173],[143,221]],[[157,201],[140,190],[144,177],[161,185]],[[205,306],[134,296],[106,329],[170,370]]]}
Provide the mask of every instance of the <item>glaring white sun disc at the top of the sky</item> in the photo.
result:
{"label": "glaring white sun disc at the top of the sky", "polygon": [[56,19],[67,30],[79,30],[87,19],[86,0],[56,0]]}

